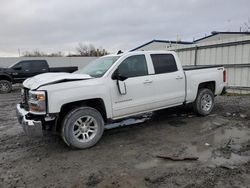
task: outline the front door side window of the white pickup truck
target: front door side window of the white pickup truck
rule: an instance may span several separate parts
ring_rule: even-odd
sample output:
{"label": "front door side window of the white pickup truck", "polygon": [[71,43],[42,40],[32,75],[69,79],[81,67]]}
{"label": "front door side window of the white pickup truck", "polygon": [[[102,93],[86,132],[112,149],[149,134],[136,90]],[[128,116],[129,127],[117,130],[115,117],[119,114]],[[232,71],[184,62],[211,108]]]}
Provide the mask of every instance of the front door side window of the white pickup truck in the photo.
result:
{"label": "front door side window of the white pickup truck", "polygon": [[134,55],[125,59],[118,67],[121,75],[136,77],[148,75],[148,67],[144,55]]}

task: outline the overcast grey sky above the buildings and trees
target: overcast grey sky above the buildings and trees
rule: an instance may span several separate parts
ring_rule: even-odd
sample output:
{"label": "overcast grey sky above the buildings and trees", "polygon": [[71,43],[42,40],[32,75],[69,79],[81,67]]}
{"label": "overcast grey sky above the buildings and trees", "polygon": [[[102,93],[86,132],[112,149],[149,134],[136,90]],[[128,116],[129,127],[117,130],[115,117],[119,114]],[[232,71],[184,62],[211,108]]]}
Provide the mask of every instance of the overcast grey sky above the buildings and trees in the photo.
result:
{"label": "overcast grey sky above the buildings and trees", "polygon": [[0,57],[25,51],[75,53],[93,44],[110,53],[153,39],[193,41],[239,31],[250,0],[1,0]]}

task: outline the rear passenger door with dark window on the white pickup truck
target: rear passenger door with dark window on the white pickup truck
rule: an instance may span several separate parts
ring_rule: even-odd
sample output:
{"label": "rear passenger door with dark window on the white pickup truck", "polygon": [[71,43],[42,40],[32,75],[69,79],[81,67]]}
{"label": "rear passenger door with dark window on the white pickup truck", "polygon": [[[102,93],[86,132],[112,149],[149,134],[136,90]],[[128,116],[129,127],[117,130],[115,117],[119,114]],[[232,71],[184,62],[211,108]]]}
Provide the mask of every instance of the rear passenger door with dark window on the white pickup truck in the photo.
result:
{"label": "rear passenger door with dark window on the white pickup truck", "polygon": [[154,67],[152,85],[154,106],[161,108],[181,104],[185,98],[185,75],[178,69],[172,54],[150,54]]}

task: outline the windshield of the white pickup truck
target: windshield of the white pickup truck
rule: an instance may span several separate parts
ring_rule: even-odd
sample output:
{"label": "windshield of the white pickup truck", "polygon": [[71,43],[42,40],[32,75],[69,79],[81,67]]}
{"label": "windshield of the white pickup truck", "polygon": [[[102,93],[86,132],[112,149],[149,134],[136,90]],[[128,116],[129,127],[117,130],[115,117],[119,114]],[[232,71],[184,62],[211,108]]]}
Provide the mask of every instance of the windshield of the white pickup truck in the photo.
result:
{"label": "windshield of the white pickup truck", "polygon": [[106,56],[98,58],[84,68],[76,71],[77,74],[88,74],[92,77],[102,77],[120,56]]}

